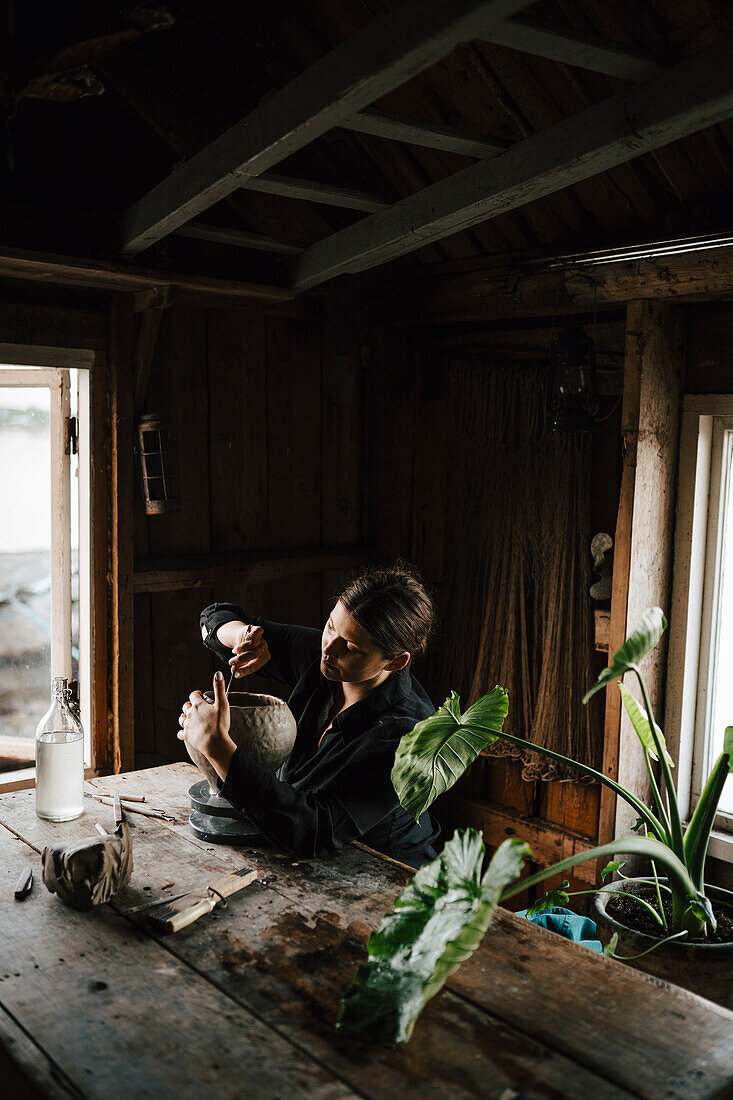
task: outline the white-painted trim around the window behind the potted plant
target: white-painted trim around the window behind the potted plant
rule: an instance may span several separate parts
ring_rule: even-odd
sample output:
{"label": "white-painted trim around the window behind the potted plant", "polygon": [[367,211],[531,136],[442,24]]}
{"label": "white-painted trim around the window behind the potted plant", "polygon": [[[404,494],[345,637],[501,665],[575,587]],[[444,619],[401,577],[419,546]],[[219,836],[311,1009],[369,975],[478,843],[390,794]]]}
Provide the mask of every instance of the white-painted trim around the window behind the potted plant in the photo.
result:
{"label": "white-painted trim around the window behind the potted plant", "polygon": [[[682,399],[679,482],[675,528],[672,598],[665,730],[677,760],[677,793],[685,818],[691,810],[701,646],[705,645],[704,578],[708,557],[709,506],[719,486],[711,485],[713,418],[733,416],[733,394],[689,395]],[[704,707],[700,707],[704,710]],[[710,855],[733,861],[733,835],[715,832]]]}

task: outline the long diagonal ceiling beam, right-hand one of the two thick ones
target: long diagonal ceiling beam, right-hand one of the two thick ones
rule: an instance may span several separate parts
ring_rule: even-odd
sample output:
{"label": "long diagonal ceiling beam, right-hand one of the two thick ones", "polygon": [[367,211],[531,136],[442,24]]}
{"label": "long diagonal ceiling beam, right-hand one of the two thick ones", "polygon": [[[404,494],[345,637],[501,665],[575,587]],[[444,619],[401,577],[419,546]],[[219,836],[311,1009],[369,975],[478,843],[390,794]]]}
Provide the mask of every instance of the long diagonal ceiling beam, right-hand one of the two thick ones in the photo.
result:
{"label": "long diagonal ceiling beam, right-hand one of the two thick ones", "polygon": [[294,286],[375,267],[733,116],[733,40],[310,245]]}

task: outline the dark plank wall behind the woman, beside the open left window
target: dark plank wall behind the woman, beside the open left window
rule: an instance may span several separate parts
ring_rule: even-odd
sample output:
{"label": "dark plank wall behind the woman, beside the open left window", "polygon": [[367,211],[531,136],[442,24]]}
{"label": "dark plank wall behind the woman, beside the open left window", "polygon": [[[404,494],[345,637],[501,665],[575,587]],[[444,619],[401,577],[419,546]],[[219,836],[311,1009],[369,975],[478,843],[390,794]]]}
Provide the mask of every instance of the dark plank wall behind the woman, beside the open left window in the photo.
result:
{"label": "dark plank wall behind the woman, beside the open left window", "polygon": [[[353,544],[362,538],[361,353],[337,355],[320,321],[254,310],[166,310],[146,408],[175,425],[183,507],[144,515],[135,554],[176,556]],[[339,575],[136,595],[135,749],[182,759],[180,704],[210,688],[200,609],[240,603],[281,622],[322,626]],[[258,690],[284,694],[258,678]]]}

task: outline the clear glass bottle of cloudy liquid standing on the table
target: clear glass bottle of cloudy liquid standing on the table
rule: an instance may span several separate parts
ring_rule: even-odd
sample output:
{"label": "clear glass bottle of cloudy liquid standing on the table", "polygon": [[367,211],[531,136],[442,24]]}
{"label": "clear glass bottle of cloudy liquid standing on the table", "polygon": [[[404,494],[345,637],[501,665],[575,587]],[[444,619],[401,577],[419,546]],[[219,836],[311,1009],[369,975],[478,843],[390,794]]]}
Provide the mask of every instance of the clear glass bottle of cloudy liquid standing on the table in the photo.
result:
{"label": "clear glass bottle of cloudy liquid standing on the table", "polygon": [[52,703],[35,732],[35,812],[50,822],[84,813],[84,729],[68,680],[55,676]]}

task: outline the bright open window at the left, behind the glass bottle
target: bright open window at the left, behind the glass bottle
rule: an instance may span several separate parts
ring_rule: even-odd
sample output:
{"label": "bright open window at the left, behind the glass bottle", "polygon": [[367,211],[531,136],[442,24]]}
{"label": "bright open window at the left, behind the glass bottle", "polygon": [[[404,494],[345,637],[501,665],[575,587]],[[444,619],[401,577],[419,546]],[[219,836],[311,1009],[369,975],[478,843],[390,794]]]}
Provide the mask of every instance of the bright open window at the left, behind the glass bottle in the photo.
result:
{"label": "bright open window at the left, behind the glass bottle", "polygon": [[88,372],[0,366],[0,787],[33,776],[51,679],[90,759]]}

